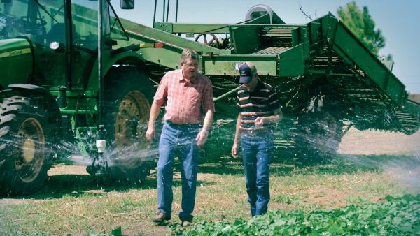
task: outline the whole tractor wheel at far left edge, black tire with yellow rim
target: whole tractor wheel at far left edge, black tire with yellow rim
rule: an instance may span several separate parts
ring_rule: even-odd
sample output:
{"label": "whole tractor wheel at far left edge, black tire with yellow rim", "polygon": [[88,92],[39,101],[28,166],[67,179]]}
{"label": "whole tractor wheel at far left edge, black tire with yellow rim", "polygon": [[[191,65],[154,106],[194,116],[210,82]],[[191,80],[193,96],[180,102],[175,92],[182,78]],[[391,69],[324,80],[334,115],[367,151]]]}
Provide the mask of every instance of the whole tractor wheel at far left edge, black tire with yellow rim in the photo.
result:
{"label": "whole tractor wheel at far left edge, black tire with yellow rim", "polygon": [[38,191],[51,168],[58,126],[38,98],[13,96],[0,104],[0,194]]}

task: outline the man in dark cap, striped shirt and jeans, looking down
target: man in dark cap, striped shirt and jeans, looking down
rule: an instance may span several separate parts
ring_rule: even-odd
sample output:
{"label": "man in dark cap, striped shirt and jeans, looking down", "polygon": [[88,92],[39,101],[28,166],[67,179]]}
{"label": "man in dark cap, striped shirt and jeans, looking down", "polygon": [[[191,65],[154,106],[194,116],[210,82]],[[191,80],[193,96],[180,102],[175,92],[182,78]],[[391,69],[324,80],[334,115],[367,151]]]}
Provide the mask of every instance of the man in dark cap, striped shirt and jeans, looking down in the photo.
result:
{"label": "man in dark cap, striped shirt and jeans, looking down", "polygon": [[257,69],[251,62],[239,67],[239,115],[232,156],[238,157],[239,136],[246,175],[246,192],[251,216],[265,214],[269,202],[269,164],[273,149],[272,124],[282,118],[276,91],[258,80]]}

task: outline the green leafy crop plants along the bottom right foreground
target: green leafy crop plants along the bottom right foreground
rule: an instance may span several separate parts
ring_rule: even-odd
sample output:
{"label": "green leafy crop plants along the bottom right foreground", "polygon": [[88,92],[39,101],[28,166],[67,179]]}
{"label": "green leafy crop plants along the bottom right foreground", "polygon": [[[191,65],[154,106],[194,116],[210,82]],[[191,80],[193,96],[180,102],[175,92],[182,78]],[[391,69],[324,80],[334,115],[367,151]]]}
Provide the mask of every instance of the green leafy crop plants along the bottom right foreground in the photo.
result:
{"label": "green leafy crop plants along the bottom right foreground", "polygon": [[202,221],[173,235],[419,235],[420,195],[305,214],[278,210],[248,221]]}

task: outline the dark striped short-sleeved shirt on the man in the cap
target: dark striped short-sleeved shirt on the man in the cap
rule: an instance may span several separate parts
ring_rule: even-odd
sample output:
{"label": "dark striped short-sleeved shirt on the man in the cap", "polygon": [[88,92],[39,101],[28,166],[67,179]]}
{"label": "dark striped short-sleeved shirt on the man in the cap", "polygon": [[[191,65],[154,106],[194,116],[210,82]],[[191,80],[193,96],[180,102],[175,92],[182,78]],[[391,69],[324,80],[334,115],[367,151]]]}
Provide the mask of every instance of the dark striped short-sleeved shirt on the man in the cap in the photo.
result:
{"label": "dark striped short-sleeved shirt on the man in the cap", "polygon": [[[242,130],[256,129],[255,119],[257,117],[269,117],[274,115],[274,110],[280,108],[280,101],[275,89],[260,81],[252,92],[249,92],[246,87],[241,87],[238,90],[237,98],[237,105],[242,116]],[[264,124],[264,127],[267,125],[269,124]]]}

